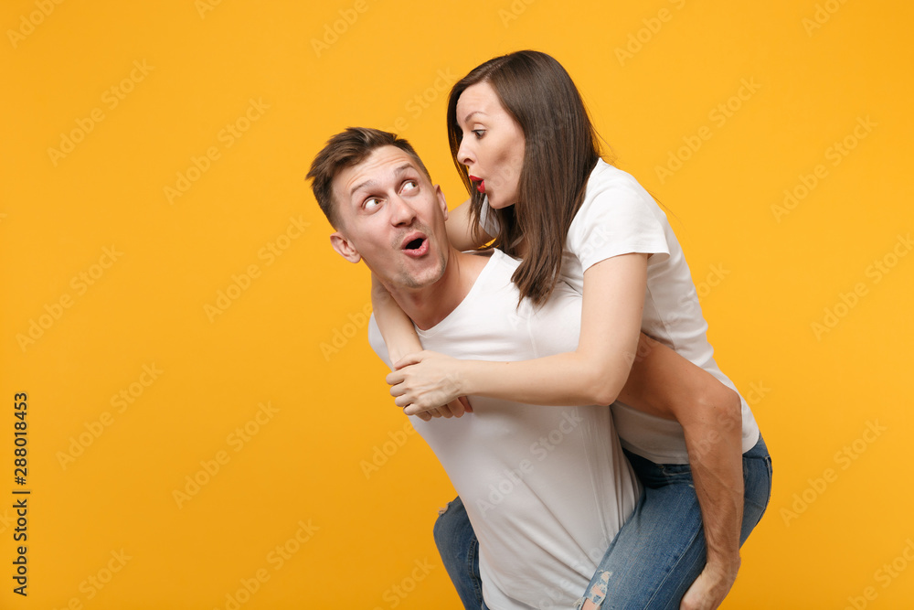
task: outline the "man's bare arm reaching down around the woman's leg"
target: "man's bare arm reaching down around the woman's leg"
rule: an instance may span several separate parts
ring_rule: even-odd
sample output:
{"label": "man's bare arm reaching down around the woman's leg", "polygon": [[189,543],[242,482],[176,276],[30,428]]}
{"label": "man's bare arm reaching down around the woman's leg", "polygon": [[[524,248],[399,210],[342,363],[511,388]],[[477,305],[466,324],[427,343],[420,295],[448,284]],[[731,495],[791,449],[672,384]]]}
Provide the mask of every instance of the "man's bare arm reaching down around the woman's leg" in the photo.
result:
{"label": "man's bare arm reaching down around the woman's leg", "polygon": [[670,348],[641,336],[619,400],[675,419],[701,507],[707,543],[704,571],[686,592],[683,609],[716,608],[739,571],[742,527],[742,410],[739,394]]}

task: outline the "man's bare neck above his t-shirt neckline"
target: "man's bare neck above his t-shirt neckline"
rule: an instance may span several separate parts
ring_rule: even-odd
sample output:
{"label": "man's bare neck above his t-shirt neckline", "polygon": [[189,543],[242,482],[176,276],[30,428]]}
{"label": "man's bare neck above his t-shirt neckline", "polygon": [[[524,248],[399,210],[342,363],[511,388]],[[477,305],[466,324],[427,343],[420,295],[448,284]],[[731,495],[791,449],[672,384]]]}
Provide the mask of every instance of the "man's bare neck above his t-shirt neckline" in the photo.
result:
{"label": "man's bare neck above his t-shirt neckline", "polygon": [[387,286],[400,309],[416,326],[428,330],[460,305],[488,258],[451,249],[441,279],[420,289]]}

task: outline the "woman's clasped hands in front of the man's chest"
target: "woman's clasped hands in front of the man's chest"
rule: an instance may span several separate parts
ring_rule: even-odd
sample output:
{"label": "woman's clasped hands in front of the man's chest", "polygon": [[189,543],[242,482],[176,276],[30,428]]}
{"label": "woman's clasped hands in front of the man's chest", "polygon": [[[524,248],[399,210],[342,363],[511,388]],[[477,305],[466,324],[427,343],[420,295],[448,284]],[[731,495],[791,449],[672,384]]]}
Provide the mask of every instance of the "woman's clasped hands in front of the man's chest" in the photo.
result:
{"label": "woman's clasped hands in front of the man's chest", "polygon": [[[407,415],[432,411],[463,395],[459,371],[460,360],[450,356],[428,350],[409,354],[394,364],[394,371],[387,377],[390,395]],[[465,411],[472,411],[466,409],[469,402],[459,404]],[[453,409],[450,411],[460,416]]]}

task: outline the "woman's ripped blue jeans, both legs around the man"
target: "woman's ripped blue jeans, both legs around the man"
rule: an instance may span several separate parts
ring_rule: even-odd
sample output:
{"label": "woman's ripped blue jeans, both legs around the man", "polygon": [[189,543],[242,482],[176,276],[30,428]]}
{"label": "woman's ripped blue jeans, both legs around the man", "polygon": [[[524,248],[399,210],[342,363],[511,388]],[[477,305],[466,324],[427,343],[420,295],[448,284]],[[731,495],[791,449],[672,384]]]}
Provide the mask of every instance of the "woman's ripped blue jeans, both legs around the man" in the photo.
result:
{"label": "woman's ripped blue jeans, both legs around the man", "polygon": [[[603,609],[675,610],[706,561],[705,530],[692,471],[687,464],[654,464],[640,455],[627,451],[625,455],[643,483],[643,493],[610,543],[579,605],[587,598]],[[740,545],[759,523],[771,498],[771,455],[761,438],[743,454],[743,477]],[[434,536],[463,606],[486,610],[478,542],[460,498],[441,513]]]}

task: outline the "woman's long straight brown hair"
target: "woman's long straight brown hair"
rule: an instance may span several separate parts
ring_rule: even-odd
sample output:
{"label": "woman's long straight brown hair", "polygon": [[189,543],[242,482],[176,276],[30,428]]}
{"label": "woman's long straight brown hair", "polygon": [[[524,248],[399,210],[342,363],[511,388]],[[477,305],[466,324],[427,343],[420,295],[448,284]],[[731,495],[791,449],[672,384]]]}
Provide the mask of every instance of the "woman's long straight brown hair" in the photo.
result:
{"label": "woman's long straight brown hair", "polygon": [[568,72],[546,53],[517,51],[489,59],[473,69],[451,90],[448,139],[451,156],[470,193],[473,231],[479,235],[484,196],[470,182],[466,166],[457,159],[462,130],[457,100],[464,90],[488,82],[524,132],[524,165],[520,200],[493,209],[499,231],[494,246],[517,256],[517,240],[526,240],[527,256],[511,278],[521,298],[545,302],[558,282],[562,250],[584,200],[590,172],[600,158],[600,143],[587,109]]}

